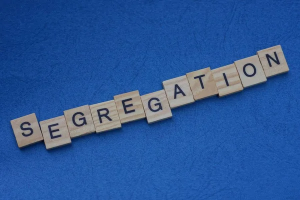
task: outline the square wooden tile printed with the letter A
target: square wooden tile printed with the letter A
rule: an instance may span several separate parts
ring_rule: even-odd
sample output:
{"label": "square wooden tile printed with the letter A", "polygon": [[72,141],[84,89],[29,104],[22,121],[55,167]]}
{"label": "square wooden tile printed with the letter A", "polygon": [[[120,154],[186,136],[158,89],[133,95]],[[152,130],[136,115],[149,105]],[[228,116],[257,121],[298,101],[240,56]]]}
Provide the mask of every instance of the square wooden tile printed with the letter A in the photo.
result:
{"label": "square wooden tile printed with the letter A", "polygon": [[170,108],[179,107],[194,102],[186,75],[162,82]]}

